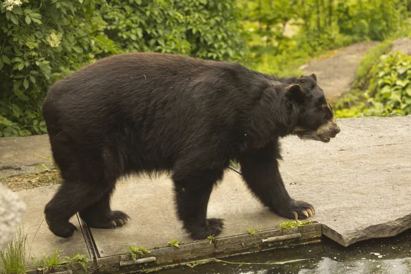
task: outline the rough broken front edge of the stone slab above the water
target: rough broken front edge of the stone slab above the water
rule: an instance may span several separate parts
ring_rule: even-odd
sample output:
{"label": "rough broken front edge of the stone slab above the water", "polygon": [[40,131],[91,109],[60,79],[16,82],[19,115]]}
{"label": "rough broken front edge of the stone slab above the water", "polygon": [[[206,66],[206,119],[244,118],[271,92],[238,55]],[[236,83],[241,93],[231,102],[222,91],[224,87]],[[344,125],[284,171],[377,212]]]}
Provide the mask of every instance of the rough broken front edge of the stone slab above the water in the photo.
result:
{"label": "rough broken front edge of the stone slab above the water", "polygon": [[[398,223],[401,223],[402,225],[398,225]],[[349,245],[362,240],[388,238],[400,234],[407,229],[411,229],[411,214],[387,223],[370,225],[362,229],[352,229],[349,232],[345,232],[345,236],[338,233],[336,229],[328,227],[325,223],[321,224],[321,229],[323,236],[338,242],[340,245],[343,245],[343,247],[348,247]]]}

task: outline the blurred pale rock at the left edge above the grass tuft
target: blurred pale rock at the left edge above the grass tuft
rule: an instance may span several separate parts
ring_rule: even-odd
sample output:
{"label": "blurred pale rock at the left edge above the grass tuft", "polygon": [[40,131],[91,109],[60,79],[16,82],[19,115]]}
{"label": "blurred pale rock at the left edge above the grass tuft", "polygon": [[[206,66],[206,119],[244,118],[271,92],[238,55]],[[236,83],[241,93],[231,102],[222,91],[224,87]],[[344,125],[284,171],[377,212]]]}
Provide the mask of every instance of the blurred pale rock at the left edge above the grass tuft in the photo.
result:
{"label": "blurred pale rock at the left edge above the grass tuft", "polygon": [[23,219],[25,203],[15,192],[0,184],[0,250],[16,234],[16,229]]}

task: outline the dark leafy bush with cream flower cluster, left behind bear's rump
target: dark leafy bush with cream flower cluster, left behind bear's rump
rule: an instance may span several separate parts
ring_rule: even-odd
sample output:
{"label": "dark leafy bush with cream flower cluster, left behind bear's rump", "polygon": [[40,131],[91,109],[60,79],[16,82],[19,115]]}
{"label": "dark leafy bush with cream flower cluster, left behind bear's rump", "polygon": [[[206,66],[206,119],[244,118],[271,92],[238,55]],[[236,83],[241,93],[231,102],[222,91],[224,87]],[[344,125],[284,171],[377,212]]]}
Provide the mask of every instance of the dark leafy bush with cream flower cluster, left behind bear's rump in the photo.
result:
{"label": "dark leafy bush with cream flower cluster, left behind bear's rump", "polygon": [[0,2],[0,136],[46,132],[49,86],[96,55],[116,52],[95,14],[100,0]]}

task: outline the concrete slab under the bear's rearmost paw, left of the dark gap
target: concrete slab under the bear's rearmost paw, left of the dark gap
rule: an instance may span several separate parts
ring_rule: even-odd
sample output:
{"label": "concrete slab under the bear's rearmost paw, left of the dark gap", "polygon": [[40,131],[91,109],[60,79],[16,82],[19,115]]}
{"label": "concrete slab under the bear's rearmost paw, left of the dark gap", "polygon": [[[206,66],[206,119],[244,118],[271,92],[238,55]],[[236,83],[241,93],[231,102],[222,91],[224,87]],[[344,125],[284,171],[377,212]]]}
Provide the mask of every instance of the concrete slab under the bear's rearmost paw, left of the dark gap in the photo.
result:
{"label": "concrete slab under the bear's rearmost paw, left of the dark gap", "polygon": [[74,234],[73,238],[59,238],[51,233],[47,227],[43,210],[46,203],[48,203],[54,195],[56,189],[57,186],[47,186],[16,192],[27,206],[27,211],[23,219],[23,228],[25,234],[27,234],[29,256],[30,258],[41,259],[42,255],[51,256],[55,250],[60,250],[62,258],[64,258],[64,256],[71,257],[77,252],[90,258],[86,242],[79,228],[77,216],[71,218],[71,223],[78,229],[78,232]]}

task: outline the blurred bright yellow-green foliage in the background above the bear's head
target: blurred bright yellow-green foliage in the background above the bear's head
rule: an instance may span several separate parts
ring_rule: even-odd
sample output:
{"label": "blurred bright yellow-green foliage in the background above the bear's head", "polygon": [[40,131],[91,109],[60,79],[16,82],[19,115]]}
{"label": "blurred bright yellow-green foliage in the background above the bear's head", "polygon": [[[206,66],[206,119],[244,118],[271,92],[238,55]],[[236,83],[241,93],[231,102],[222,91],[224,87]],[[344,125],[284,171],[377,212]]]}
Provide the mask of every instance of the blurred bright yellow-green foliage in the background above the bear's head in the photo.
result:
{"label": "blurred bright yellow-green foliage in the background above the bear's head", "polygon": [[405,1],[238,0],[251,47],[247,66],[301,75],[299,66],[326,51],[362,40],[383,40],[403,25]]}

